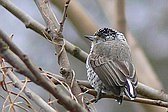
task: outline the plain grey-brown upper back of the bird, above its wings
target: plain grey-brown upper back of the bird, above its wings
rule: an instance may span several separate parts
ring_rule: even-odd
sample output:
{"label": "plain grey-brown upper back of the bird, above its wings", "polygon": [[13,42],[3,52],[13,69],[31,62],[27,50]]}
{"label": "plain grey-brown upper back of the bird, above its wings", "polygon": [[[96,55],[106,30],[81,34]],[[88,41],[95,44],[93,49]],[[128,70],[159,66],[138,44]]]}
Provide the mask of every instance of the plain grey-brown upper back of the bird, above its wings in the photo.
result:
{"label": "plain grey-brown upper back of the bird, above its wings", "polygon": [[101,42],[94,45],[90,58],[95,55],[106,57],[109,60],[132,62],[130,48],[127,43],[118,40]]}

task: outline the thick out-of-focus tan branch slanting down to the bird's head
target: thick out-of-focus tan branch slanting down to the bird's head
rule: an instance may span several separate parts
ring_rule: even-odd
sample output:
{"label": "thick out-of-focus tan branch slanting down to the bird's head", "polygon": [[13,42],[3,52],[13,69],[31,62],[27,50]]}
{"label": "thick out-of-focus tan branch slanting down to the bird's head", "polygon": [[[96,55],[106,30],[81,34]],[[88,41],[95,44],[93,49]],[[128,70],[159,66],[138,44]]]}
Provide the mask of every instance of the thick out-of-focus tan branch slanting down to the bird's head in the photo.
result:
{"label": "thick out-of-focus tan branch slanting down to the bird's head", "polygon": [[[51,0],[51,2],[60,10],[63,9],[63,4],[66,0]],[[80,35],[91,35],[97,30],[97,25],[92,22],[90,16],[85,16],[85,10],[77,0],[71,2],[71,7],[68,9],[68,17],[72,24],[77,28]],[[85,16],[85,17],[84,17]],[[83,18],[84,17],[84,18]],[[82,22],[84,24],[82,24]]]}

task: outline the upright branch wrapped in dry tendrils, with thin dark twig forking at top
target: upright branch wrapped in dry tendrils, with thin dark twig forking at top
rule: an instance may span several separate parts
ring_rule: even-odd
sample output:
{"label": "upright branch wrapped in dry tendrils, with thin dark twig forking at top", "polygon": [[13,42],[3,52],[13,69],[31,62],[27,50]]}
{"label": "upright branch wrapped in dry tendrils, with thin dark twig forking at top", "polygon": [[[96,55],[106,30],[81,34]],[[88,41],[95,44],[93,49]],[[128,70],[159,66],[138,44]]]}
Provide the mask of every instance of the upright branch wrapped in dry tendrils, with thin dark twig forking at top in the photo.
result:
{"label": "upright branch wrapped in dry tendrils, with thin dark twig forking at top", "polygon": [[[63,23],[65,21],[65,17],[63,16],[62,25],[60,26],[60,31],[58,32],[58,26],[53,19],[55,16],[49,6],[49,2],[46,0],[45,2],[42,0],[34,0],[37,7],[39,8],[48,28],[49,28],[49,35],[52,37],[53,42],[55,43],[56,53],[58,55],[58,64],[60,65],[60,68],[66,69],[66,73],[62,74],[62,76],[66,79],[66,83],[71,87],[72,93],[77,98],[78,102],[84,106],[87,107],[86,104],[82,101],[83,97],[79,96],[81,93],[80,87],[78,86],[74,71],[70,68],[70,63],[67,57],[67,53],[65,51],[65,41],[63,39],[62,29],[63,29]],[[68,0],[65,4],[64,9],[64,15],[66,16],[66,11],[68,4],[70,3],[70,0]]]}

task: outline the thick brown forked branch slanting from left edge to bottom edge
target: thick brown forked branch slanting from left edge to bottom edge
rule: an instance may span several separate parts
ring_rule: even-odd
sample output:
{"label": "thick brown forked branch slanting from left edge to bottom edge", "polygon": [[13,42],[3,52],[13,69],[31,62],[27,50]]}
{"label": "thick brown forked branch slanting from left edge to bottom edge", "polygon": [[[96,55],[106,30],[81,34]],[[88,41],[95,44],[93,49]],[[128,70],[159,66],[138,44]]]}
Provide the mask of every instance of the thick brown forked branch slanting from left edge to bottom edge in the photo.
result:
{"label": "thick brown forked branch slanting from left edge to bottom edge", "polygon": [[[15,60],[18,57],[9,48],[12,48],[11,50],[17,56],[19,56],[19,58],[24,62],[26,67],[24,64],[22,64],[23,62],[20,63],[20,61]],[[24,75],[26,75],[30,79],[32,79],[32,77],[30,76],[34,76],[35,79],[32,79],[32,81],[40,85],[47,91],[49,91],[56,99],[59,100],[59,102],[66,109],[71,110],[72,112],[85,112],[85,110],[79,104],[77,104],[74,100],[72,100],[69,96],[67,96],[60,88],[56,87],[52,82],[47,80],[47,78],[42,76],[39,72],[39,69],[32,64],[32,62],[28,59],[28,57],[24,55],[20,51],[20,49],[18,49],[7,37],[7,35],[3,33],[1,30],[0,30],[0,56],[2,56],[8,63],[10,63],[13,67],[15,67],[18,70],[20,69],[18,68],[18,66],[23,65],[24,66],[23,73],[29,73]]]}

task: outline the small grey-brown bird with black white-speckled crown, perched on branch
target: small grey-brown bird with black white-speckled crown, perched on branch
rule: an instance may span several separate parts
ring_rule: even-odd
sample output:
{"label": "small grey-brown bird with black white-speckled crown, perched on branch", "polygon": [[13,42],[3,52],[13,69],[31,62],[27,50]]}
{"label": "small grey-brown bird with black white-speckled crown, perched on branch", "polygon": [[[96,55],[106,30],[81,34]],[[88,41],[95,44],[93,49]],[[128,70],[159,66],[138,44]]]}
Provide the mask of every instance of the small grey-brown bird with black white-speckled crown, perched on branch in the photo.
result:
{"label": "small grey-brown bird with black white-speckled crown, perched on branch", "polygon": [[124,94],[134,100],[138,79],[124,35],[114,29],[101,28],[85,37],[92,42],[86,68],[88,81],[97,91],[96,102],[101,93],[117,96],[119,104]]}

